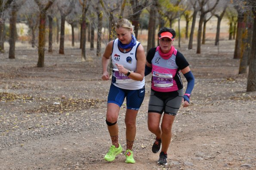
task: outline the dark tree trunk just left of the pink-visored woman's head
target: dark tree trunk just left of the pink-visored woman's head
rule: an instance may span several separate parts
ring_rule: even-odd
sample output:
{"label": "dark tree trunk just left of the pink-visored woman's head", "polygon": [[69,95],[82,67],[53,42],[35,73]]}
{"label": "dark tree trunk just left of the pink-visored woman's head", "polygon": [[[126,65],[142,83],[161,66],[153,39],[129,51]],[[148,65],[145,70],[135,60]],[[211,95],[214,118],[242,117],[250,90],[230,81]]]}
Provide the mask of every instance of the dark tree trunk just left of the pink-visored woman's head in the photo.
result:
{"label": "dark tree trunk just left of the pink-visored woman's head", "polygon": [[148,45],[147,45],[147,53],[148,51],[154,47],[154,39],[155,39],[155,15],[156,15],[156,7],[152,4],[150,12],[149,12],[149,21],[148,21]]}

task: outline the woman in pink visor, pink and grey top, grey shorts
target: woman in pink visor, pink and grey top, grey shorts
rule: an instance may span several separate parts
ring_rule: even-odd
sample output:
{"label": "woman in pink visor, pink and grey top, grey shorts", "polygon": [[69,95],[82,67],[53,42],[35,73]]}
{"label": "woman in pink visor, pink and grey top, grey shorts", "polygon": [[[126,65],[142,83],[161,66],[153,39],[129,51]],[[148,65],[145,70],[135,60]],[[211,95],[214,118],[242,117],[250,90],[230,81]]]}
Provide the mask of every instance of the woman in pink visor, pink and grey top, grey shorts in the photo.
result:
{"label": "woman in pink visor, pink and grey top, grey shorts", "polygon": [[[183,107],[189,106],[189,98],[194,87],[194,76],[187,60],[173,46],[175,36],[173,29],[162,27],[158,32],[159,46],[148,51],[145,66],[145,76],[152,73],[148,103],[148,129],[156,135],[152,152],[160,151],[157,163],[163,165],[167,165],[167,151],[172,138],[174,118],[182,102]],[[185,94],[179,71],[188,81]]]}

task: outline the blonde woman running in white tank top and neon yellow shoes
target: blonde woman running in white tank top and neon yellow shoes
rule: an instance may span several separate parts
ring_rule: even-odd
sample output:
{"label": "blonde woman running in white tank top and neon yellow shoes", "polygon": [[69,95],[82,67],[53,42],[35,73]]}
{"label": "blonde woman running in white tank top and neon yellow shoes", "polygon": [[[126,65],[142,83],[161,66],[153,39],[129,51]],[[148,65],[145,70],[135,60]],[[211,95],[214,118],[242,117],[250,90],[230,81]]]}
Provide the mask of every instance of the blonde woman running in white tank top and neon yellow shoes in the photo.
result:
{"label": "blonde woman running in white tank top and neon yellow shoes", "polygon": [[123,149],[118,140],[117,118],[124,98],[126,98],[126,163],[135,163],[133,141],[136,136],[136,116],[145,95],[144,48],[136,40],[133,25],[125,18],[115,24],[117,39],[108,42],[102,56],[102,80],[108,81],[108,63],[113,64],[111,86],[108,93],[106,123],[112,145],[105,155],[106,161],[114,161]]}

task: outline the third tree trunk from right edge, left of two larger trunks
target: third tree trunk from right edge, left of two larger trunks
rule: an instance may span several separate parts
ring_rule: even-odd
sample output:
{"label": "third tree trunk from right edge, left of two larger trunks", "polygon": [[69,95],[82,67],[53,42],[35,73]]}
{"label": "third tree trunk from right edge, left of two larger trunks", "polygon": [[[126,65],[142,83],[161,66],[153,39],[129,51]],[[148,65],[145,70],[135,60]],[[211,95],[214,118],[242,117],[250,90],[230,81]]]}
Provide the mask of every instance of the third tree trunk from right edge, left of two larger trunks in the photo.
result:
{"label": "third tree trunk from right edge, left of two larger trunks", "polygon": [[237,18],[237,33],[236,33],[236,40],[235,40],[235,48],[234,48],[234,59],[240,59],[241,57],[241,39],[243,29],[245,28],[244,23],[244,14],[238,14]]}

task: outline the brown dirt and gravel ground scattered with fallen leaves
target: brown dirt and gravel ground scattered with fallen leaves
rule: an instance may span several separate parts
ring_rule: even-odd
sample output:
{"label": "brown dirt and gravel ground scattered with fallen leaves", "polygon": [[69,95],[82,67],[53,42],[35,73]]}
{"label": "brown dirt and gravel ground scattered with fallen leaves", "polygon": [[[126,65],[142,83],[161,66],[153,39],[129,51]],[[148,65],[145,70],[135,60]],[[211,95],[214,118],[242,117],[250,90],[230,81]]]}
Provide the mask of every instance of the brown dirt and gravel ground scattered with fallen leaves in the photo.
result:
{"label": "brown dirt and gravel ground scattered with fallen leaves", "polygon": [[[101,59],[81,63],[80,50],[70,48],[63,56],[46,54],[45,67],[36,68],[36,50],[18,48],[15,60],[1,54],[0,169],[255,169],[256,92],[246,92],[247,75],[238,75],[234,41],[220,42],[219,51],[212,44],[203,45],[200,55],[186,45],[180,49],[196,84],[191,107],[176,116],[167,166],[158,165],[158,154],[151,152],[150,76],[137,118],[136,164],[124,163],[124,154],[108,163],[103,157],[111,145],[105,125],[110,81],[101,81]],[[118,119],[123,148],[125,109],[123,104]]]}

